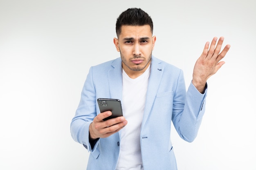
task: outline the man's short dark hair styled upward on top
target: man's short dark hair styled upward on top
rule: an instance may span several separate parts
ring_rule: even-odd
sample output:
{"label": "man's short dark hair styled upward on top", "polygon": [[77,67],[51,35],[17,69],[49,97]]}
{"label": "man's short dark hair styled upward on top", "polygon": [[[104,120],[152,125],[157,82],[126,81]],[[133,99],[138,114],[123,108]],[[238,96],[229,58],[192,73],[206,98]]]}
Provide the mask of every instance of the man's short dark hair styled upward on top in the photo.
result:
{"label": "man's short dark hair styled upward on top", "polygon": [[153,33],[153,21],[151,17],[140,8],[129,8],[119,15],[116,22],[117,37],[119,37],[119,35],[121,34],[122,25],[130,25],[130,26],[149,25],[151,32]]}

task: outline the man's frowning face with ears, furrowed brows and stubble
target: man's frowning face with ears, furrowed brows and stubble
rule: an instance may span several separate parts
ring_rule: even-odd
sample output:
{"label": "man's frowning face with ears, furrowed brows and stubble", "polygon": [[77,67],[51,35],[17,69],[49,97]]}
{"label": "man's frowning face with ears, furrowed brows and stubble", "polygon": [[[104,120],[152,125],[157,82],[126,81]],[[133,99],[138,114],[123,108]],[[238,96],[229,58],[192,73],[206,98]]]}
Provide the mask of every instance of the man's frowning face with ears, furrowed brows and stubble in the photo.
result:
{"label": "man's frowning face with ears, furrowed brows and stubble", "polygon": [[155,45],[149,25],[121,26],[119,38],[114,38],[120,52],[122,67],[130,77],[137,77],[148,68]]}

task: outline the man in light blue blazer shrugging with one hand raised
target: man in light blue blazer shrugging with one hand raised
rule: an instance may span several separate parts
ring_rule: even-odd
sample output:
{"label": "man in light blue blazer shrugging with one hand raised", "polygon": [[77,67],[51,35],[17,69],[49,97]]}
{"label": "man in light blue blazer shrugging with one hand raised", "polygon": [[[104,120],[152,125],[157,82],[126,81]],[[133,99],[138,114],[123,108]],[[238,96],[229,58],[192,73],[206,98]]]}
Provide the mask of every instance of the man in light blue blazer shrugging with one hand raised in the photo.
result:
{"label": "man in light blue blazer shrugging with one hand raised", "polygon": [[[152,56],[153,22],[141,9],[127,9],[116,22],[114,44],[121,57],[92,66],[71,122],[75,141],[90,152],[88,170],[176,170],[171,121],[192,142],[205,110],[207,79],[225,63],[224,38],[207,42],[186,92],[183,72]],[[98,98],[120,99],[124,116],[108,119]]]}

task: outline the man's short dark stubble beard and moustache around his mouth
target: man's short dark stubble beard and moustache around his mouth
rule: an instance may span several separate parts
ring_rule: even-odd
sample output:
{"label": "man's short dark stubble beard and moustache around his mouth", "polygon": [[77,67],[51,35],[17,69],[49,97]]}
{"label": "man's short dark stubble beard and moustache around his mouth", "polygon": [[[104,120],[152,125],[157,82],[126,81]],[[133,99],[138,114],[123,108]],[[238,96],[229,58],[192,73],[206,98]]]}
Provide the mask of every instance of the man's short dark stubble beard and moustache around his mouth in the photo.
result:
{"label": "man's short dark stubble beard and moustache around his mouth", "polygon": [[[129,60],[126,60],[126,58],[124,57],[124,55],[122,55],[122,53],[120,52],[120,55],[121,55],[121,59],[122,59],[122,62],[124,63],[124,65],[126,65],[130,70],[132,71],[141,71],[143,70],[144,68],[146,68],[146,66],[148,65],[148,63],[151,61],[151,57],[152,57],[152,51],[150,53],[150,55],[148,56],[148,59],[145,58],[145,57],[142,57],[141,55],[134,55],[132,58],[130,58]],[[141,63],[141,64],[136,64],[136,65],[129,65],[129,62],[130,60],[133,60],[133,59],[142,59],[144,61],[146,61],[146,64]]]}

